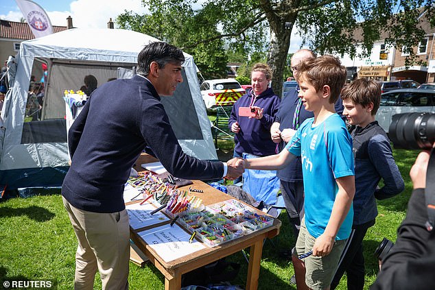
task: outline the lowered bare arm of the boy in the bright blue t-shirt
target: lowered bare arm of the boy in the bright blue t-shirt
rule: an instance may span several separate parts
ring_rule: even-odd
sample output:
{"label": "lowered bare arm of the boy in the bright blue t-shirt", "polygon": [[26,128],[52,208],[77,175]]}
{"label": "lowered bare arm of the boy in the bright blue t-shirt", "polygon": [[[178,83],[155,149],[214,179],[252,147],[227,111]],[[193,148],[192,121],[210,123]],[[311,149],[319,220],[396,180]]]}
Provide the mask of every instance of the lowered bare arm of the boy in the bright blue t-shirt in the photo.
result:
{"label": "lowered bare arm of the boy in the bright blue t-shirt", "polygon": [[314,256],[327,256],[331,252],[338,230],[349,213],[353,195],[355,195],[355,176],[343,176],[337,178],[336,182],[338,193],[333,204],[331,217],[329,217],[325,232],[320,234],[314,243]]}

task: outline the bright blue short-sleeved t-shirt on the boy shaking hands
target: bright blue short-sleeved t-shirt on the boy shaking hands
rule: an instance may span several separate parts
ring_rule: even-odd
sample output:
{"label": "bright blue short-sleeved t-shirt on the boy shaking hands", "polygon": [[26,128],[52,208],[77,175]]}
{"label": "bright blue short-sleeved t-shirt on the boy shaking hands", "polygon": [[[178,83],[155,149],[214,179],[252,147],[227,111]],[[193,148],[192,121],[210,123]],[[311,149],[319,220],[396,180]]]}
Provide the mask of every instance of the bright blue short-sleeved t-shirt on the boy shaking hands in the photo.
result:
{"label": "bright blue short-sleeved t-shirt on the boy shaking hands", "polygon": [[[311,236],[325,232],[338,193],[336,178],[353,176],[352,138],[344,121],[333,114],[313,126],[314,118],[305,120],[287,144],[288,151],[301,156],[305,190],[305,224]],[[336,239],[351,233],[353,208],[349,210]]]}

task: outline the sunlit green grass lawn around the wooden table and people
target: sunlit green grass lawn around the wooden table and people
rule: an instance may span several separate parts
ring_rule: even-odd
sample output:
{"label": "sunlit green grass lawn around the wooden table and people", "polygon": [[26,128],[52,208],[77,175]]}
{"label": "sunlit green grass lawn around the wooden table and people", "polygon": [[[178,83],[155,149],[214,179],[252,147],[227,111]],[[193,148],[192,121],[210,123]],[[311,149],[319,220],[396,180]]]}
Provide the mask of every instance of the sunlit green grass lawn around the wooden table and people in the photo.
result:
{"label": "sunlit green grass lawn around the wooden table and people", "polygon": [[[418,152],[395,150],[394,154],[406,188],[401,195],[378,202],[376,224],[364,239],[366,289],[375,280],[378,269],[373,252],[384,237],[395,241],[412,191],[409,171]],[[294,237],[285,212],[280,219],[281,233],[272,239],[273,245],[267,241],[263,247],[259,289],[296,289],[290,285],[294,274],[291,263],[279,256],[279,250],[290,249]],[[73,289],[77,241],[59,194],[0,202],[0,241],[0,287],[4,280],[51,280],[57,289]],[[244,287],[248,264],[242,253],[233,254],[228,260],[242,264],[233,285]],[[151,264],[140,268],[130,263],[129,282],[130,289],[164,289],[163,275]],[[98,274],[95,289],[101,289]],[[345,276],[338,289],[346,289]]]}

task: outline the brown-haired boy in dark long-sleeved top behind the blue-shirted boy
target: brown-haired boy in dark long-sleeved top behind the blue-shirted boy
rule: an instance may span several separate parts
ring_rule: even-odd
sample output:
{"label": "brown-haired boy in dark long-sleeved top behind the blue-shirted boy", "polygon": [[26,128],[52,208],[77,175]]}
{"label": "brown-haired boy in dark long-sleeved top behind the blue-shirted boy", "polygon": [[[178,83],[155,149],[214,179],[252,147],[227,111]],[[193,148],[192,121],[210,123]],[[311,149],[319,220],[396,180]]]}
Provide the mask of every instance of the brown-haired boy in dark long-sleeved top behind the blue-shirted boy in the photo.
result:
{"label": "brown-haired boy in dark long-sleeved top behind the blue-shirted boy", "polygon": [[[355,158],[355,197],[353,224],[349,239],[331,282],[336,289],[344,272],[347,289],[364,288],[364,255],[362,241],[368,228],[375,224],[377,200],[395,196],[405,189],[405,183],[392,156],[390,140],[375,121],[381,101],[381,88],[373,80],[358,79],[345,86],[341,94],[347,123],[352,125]],[[380,180],[384,186],[378,186]]]}

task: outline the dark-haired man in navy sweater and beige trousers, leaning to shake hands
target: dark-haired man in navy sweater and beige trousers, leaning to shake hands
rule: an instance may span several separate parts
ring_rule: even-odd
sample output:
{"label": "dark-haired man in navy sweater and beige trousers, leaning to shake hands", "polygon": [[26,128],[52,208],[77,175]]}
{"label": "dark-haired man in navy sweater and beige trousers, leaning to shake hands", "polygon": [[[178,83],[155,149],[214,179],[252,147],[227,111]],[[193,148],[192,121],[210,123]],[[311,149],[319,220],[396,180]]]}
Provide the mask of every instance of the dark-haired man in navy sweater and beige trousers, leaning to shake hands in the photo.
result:
{"label": "dark-haired man in navy sweater and beige trousers, leaning to shake hands", "polygon": [[138,56],[138,75],[93,91],[69,130],[71,167],[62,184],[78,249],[75,289],[93,289],[97,269],[103,289],[128,289],[130,232],[123,200],[130,169],[145,146],[178,178],[236,178],[237,159],[198,160],[180,147],[161,95],[183,82],[183,51],[151,43]]}

